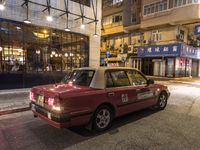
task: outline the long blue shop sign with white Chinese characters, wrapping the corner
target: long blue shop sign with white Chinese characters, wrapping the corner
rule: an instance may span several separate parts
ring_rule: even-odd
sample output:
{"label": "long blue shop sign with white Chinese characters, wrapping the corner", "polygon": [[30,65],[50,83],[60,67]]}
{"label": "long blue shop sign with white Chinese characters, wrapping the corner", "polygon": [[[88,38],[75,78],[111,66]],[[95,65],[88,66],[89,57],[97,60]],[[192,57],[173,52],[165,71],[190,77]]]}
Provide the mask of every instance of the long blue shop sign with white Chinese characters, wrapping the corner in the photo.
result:
{"label": "long blue shop sign with white Chinese characters, wrapping the corner", "polygon": [[200,59],[200,49],[185,44],[138,47],[138,57],[188,57]]}

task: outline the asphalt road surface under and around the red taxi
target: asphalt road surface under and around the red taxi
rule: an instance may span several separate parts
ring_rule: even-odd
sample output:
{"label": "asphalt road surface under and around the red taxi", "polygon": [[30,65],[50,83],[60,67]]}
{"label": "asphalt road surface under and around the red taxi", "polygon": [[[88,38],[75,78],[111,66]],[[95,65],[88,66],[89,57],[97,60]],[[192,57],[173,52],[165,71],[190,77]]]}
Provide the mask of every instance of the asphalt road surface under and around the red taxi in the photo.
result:
{"label": "asphalt road surface under and around the red taxi", "polygon": [[118,118],[101,134],[56,129],[30,111],[0,117],[0,150],[200,149],[200,86],[166,82],[164,111],[146,109]]}

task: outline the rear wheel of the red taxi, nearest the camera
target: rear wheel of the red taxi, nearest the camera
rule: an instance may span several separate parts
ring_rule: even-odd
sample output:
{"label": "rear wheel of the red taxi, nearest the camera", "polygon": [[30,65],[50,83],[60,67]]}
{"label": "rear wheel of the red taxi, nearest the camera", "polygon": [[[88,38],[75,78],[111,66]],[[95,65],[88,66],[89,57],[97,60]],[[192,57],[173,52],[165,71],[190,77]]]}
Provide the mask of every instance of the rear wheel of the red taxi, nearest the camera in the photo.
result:
{"label": "rear wheel of the red taxi, nearest the camera", "polygon": [[94,113],[93,129],[97,132],[107,130],[112,124],[113,117],[113,111],[109,106],[100,106]]}

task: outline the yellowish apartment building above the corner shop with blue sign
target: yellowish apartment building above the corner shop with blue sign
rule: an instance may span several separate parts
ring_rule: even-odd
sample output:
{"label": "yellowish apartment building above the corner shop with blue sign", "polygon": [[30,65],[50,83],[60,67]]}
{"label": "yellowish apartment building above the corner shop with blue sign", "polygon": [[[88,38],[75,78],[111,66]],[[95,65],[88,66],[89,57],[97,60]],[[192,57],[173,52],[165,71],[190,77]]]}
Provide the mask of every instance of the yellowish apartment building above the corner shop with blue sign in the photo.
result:
{"label": "yellowish apartment building above the corner shop with blue sign", "polygon": [[124,0],[122,6],[127,8],[123,11],[122,36],[128,36],[130,53],[137,53],[127,55],[126,65],[128,62],[147,75],[200,76],[200,41],[199,33],[195,33],[200,1]]}

